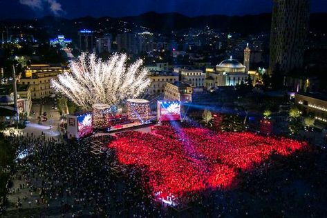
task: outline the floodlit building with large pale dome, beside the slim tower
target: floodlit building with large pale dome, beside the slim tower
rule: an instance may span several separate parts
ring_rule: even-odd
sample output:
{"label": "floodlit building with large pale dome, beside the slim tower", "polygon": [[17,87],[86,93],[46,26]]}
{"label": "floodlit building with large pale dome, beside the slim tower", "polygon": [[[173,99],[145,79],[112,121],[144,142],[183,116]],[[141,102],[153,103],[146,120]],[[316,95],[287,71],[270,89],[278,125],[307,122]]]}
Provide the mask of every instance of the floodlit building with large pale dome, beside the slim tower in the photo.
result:
{"label": "floodlit building with large pale dome, beside the slim tower", "polygon": [[246,67],[236,59],[226,59],[216,66],[215,70],[206,72],[205,86],[215,88],[217,86],[236,86],[245,83],[249,76]]}

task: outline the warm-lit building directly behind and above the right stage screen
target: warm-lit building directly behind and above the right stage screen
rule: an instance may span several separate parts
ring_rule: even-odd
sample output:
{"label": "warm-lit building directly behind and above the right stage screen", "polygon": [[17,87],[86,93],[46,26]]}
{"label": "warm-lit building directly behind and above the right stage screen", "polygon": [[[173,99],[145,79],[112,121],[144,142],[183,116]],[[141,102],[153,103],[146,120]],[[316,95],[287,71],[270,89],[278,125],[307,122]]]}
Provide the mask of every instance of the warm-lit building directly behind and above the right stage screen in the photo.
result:
{"label": "warm-lit building directly behind and above the right stage screen", "polygon": [[176,81],[167,83],[165,87],[165,99],[171,101],[192,101],[193,88],[188,83]]}

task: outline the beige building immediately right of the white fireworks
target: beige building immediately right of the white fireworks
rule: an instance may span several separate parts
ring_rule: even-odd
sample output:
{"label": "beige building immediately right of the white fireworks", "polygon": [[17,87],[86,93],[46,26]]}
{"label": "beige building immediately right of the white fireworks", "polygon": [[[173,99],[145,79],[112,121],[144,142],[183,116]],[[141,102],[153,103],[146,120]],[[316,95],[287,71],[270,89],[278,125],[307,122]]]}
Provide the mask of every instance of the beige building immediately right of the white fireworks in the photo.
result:
{"label": "beige building immediately right of the white fireworks", "polygon": [[178,73],[176,72],[152,71],[149,77],[151,79],[151,85],[147,89],[149,95],[161,94],[165,92],[167,83],[178,81]]}

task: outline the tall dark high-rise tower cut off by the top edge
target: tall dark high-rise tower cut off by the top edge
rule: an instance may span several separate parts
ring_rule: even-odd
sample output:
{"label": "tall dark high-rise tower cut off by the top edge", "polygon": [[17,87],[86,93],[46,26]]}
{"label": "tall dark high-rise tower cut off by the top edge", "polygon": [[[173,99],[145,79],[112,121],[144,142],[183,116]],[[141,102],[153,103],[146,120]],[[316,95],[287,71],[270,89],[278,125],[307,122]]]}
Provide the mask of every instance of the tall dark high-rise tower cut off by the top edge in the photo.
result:
{"label": "tall dark high-rise tower cut off by the top edge", "polygon": [[310,0],[274,0],[270,34],[270,70],[302,68],[310,19]]}

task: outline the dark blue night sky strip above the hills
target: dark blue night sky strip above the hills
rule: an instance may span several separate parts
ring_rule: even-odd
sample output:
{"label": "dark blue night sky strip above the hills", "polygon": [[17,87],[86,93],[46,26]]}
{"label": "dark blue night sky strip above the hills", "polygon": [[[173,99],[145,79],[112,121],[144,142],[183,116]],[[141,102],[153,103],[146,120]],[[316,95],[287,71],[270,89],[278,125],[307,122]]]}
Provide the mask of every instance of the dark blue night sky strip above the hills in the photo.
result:
{"label": "dark blue night sky strip above the hills", "polygon": [[[208,14],[270,12],[272,0],[0,0],[0,18],[33,18],[55,14],[75,18],[123,17],[143,12],[180,12],[194,17]],[[327,12],[327,0],[312,0],[312,12]]]}

